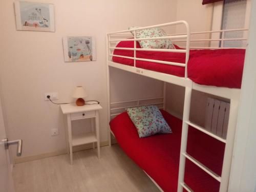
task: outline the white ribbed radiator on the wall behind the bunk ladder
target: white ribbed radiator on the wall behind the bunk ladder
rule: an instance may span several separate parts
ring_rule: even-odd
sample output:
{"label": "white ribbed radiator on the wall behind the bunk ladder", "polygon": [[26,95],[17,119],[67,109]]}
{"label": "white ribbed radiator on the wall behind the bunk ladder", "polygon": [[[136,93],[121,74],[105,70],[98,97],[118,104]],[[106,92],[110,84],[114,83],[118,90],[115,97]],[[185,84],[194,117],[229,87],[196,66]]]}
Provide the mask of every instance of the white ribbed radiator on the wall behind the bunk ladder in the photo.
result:
{"label": "white ribbed radiator on the wall behind the bunk ladder", "polygon": [[205,129],[226,138],[230,104],[208,98],[206,103]]}

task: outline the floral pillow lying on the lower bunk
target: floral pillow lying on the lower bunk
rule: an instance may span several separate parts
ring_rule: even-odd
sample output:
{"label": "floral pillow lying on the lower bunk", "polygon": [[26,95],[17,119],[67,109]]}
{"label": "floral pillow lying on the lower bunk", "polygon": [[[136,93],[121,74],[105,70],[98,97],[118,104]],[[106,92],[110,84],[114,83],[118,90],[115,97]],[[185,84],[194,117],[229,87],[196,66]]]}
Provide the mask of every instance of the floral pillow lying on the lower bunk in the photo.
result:
{"label": "floral pillow lying on the lower bunk", "polygon": [[140,138],[157,133],[172,133],[169,125],[155,105],[128,108],[127,113],[136,126]]}

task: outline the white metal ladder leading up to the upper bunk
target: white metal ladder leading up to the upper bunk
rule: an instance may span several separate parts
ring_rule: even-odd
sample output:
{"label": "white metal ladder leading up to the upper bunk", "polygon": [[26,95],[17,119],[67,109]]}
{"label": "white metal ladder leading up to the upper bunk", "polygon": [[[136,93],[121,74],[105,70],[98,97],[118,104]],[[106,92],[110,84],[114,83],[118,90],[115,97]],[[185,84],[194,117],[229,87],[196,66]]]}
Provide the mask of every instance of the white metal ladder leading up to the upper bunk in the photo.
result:
{"label": "white metal ladder leading up to the upper bunk", "polygon": [[[233,149],[233,141],[234,141],[234,133],[236,129],[236,118],[238,113],[238,105],[239,105],[239,97],[240,91],[233,90],[230,96],[230,113],[229,113],[229,122],[228,122],[228,129],[227,129],[227,137],[226,139],[215,135],[203,127],[190,122],[189,121],[189,112],[190,112],[190,100],[191,100],[191,93],[192,93],[192,86],[187,86],[185,89],[185,99],[184,99],[184,112],[183,112],[183,122],[182,122],[182,135],[181,135],[181,150],[180,150],[180,165],[179,165],[179,180],[178,180],[178,192],[182,192],[183,188],[187,191],[193,191],[185,182],[184,182],[184,174],[185,174],[185,161],[188,159],[189,161],[193,162],[195,165],[200,167],[204,170],[208,175],[216,179],[220,182],[220,189],[219,191],[224,192],[228,189],[228,181],[229,181],[229,173],[230,173],[230,166],[231,166],[231,159],[232,159],[232,149]],[[186,152],[187,147],[187,136],[188,136],[188,126],[193,127],[223,143],[225,143],[225,153],[222,165],[222,175],[219,176],[208,167],[203,165],[201,162],[190,156]],[[193,129],[192,128],[192,129]]]}

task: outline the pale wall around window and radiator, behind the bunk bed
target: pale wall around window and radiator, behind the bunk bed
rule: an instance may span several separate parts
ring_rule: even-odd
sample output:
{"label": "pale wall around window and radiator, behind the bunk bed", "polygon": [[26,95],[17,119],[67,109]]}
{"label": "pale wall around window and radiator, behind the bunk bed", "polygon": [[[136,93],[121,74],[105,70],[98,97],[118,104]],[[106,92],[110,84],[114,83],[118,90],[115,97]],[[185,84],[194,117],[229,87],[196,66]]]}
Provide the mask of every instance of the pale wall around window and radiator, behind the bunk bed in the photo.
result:
{"label": "pale wall around window and radiator, behind the bunk bed", "polygon": [[[198,31],[209,31],[211,29],[211,19],[212,19],[212,4],[202,5],[201,0],[187,1],[179,0],[177,1],[177,20],[186,20],[189,24],[191,32]],[[182,27],[176,28],[176,33],[182,33],[185,29]],[[207,35],[197,35],[191,36],[191,38],[209,38]],[[182,45],[182,44],[179,44]],[[198,43],[194,43],[191,46],[205,46]],[[182,117],[183,115],[183,104],[184,104],[184,93],[185,89],[174,84],[167,83],[167,109],[170,113],[177,117]],[[199,94],[198,92],[193,92],[193,98],[198,101],[206,101],[206,94]],[[192,98],[192,99],[193,99]],[[204,123],[204,105],[195,104],[198,102],[192,102],[193,112],[190,113],[191,119],[196,120],[200,125]],[[194,113],[195,112],[195,113]],[[200,113],[198,115],[197,113]],[[200,117],[200,119],[198,118]]]}

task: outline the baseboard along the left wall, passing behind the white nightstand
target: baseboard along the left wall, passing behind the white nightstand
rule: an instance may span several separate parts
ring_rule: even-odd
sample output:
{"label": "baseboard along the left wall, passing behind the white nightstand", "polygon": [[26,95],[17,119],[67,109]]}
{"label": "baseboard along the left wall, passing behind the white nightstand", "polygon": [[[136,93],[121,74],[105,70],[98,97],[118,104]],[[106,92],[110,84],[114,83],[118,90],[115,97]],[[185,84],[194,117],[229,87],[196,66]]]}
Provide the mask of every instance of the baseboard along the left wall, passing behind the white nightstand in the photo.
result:
{"label": "baseboard along the left wall, passing behind the white nightstand", "polygon": [[[112,144],[115,144],[115,143],[116,143],[116,140],[112,139]],[[109,141],[100,142],[100,146],[106,146],[106,145],[109,145]],[[90,150],[91,148],[93,148],[92,143],[91,144],[86,144],[86,145],[74,146],[73,147],[73,152]],[[68,151],[65,149],[65,150],[59,150],[59,151],[56,151],[56,152],[50,152],[50,153],[45,153],[45,154],[32,155],[32,156],[27,156],[27,157],[18,157],[18,158],[14,158],[14,164],[23,163],[23,162],[27,162],[27,161],[38,160],[38,159],[44,159],[44,158],[47,158],[47,157],[53,157],[53,156],[57,156],[57,155],[64,155],[64,154],[67,154],[67,153],[68,153]]]}

